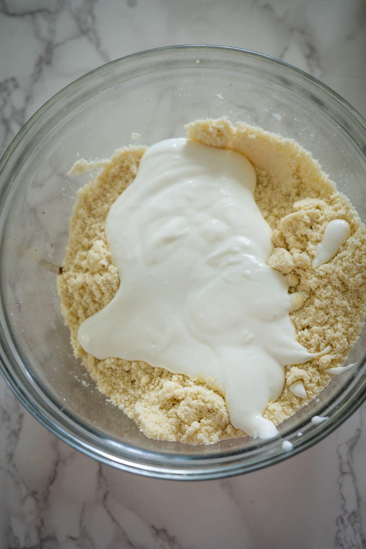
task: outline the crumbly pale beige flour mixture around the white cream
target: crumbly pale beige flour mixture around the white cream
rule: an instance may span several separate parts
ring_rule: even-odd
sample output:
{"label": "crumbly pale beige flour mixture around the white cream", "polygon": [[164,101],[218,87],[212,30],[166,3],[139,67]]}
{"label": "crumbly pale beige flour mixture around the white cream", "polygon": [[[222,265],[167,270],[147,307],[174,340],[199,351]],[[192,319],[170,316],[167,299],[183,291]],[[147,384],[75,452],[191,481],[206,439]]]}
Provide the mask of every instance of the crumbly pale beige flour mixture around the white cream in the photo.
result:
{"label": "crumbly pale beige flour mixture around the white cream", "polygon": [[[304,304],[291,313],[297,338],[311,352],[331,346],[330,354],[286,371],[280,397],[264,412],[264,417],[279,424],[318,395],[330,380],[324,369],[342,366],[358,338],[365,315],[366,229],[350,201],[294,141],[243,123],[234,127],[226,119],[193,122],[187,133],[206,145],[243,153],[254,164],[255,199],[273,229],[275,248],[268,264],[288,277],[290,291],[303,292]],[[99,390],[151,438],[210,444],[241,436],[243,432],[230,424],[224,394],[217,388],[144,362],[98,360],[78,343],[80,324],[108,304],[119,288],[105,220],[111,204],[136,176],[144,151],[144,147],[118,150],[99,164],[102,171],[78,193],[63,273],[58,277],[74,354],[82,358]],[[88,169],[83,162],[74,172]],[[316,244],[328,222],[338,218],[348,221],[351,236],[333,260],[314,270]],[[289,391],[297,379],[305,385],[306,400]]]}

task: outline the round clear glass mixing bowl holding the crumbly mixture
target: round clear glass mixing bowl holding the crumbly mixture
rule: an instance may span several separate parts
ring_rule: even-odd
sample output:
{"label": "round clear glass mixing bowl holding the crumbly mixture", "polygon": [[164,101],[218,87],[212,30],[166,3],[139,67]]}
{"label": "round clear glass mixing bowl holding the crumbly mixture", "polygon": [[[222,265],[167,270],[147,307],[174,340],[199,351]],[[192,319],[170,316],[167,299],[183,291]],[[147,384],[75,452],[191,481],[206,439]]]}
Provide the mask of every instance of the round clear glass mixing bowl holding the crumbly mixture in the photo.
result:
{"label": "round clear glass mixing bowl holding the crumbly mixture", "polygon": [[[78,158],[184,136],[185,123],[227,115],[294,138],[309,149],[366,221],[366,124],[341,97],[281,61],[240,49],[179,46],[112,61],[48,101],[0,164],[0,355],[2,373],[26,408],[87,455],[153,477],[209,479],[277,463],[319,441],[365,398],[364,328],[358,362],[280,425],[273,440],[190,446],[146,438],[106,402],[72,356],[56,290],[77,189]],[[315,414],[329,416],[313,425]],[[297,433],[303,434],[297,437]],[[285,452],[283,439],[294,448]]]}

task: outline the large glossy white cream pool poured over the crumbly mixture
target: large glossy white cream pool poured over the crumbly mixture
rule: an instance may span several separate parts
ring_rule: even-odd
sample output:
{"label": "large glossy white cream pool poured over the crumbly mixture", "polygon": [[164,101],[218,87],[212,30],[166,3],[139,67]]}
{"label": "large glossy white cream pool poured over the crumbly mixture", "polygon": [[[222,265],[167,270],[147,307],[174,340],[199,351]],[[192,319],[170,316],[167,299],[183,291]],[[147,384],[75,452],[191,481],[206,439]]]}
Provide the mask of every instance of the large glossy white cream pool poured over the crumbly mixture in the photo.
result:
{"label": "large glossy white cream pool poured over the crumbly mixture", "polygon": [[266,265],[271,228],[244,156],[168,139],[150,147],[112,205],[105,233],[120,275],[114,299],[81,325],[97,358],[142,360],[222,386],[230,421],[270,438],[262,417],[297,343],[285,277]]}

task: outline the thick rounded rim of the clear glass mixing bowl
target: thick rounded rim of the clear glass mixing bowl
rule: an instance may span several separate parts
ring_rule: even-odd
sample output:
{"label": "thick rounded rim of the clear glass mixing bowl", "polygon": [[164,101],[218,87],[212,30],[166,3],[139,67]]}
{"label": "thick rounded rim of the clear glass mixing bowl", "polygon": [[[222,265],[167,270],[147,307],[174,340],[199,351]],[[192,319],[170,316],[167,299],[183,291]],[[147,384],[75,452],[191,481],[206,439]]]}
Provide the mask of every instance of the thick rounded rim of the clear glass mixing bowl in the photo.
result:
{"label": "thick rounded rim of the clear glass mixing bowl", "polygon": [[[0,175],[7,164],[8,159],[12,155],[15,148],[18,146],[22,138],[26,135],[26,133],[30,130],[30,128],[35,124],[37,120],[41,118],[41,116],[46,113],[46,111],[51,108],[54,104],[59,102],[59,100],[62,100],[72,89],[82,87],[84,82],[87,82],[93,78],[95,74],[102,73],[103,71],[108,71],[111,66],[115,65],[123,65],[128,63],[130,60],[137,60],[139,58],[144,58],[147,56],[154,56],[159,55],[161,53],[170,53],[170,52],[176,52],[176,51],[187,51],[187,50],[196,50],[200,51],[202,49],[209,49],[211,51],[221,51],[221,52],[228,52],[228,53],[240,53],[244,54],[247,58],[256,58],[256,59],[262,59],[267,60],[269,63],[277,66],[281,66],[282,68],[285,68],[286,71],[289,71],[290,74],[296,74],[301,77],[302,80],[305,80],[312,85],[316,86],[316,88],[320,88],[325,94],[333,98],[337,103],[341,104],[342,107],[344,107],[348,114],[352,115],[354,119],[358,122],[359,125],[362,126],[363,130],[366,133],[366,120],[364,117],[358,113],[356,109],[352,107],[350,103],[348,103],[344,98],[342,98],[339,94],[337,94],[333,89],[326,86],[323,82],[319,81],[315,77],[309,75],[307,72],[302,71],[301,69],[296,68],[293,65],[290,65],[289,63],[286,63],[285,61],[281,61],[279,59],[276,59],[274,57],[271,57],[266,54],[250,51],[243,48],[235,48],[231,46],[218,46],[218,45],[211,45],[211,44],[182,44],[177,46],[166,46],[166,47],[160,47],[160,48],[153,48],[144,50],[141,52],[132,53],[129,55],[126,55],[125,57],[121,57],[112,61],[109,61],[109,63],[105,63],[103,65],[98,66],[98,68],[95,68],[89,72],[87,72],[85,75],[82,75],[78,77],[78,79],[72,81],[67,86],[62,88],[59,92],[54,94],[46,103],[42,105],[31,117],[24,126],[20,129],[20,131],[16,134],[12,142],[10,142],[9,146],[5,150],[1,160],[0,160]],[[6,188],[6,187],[5,187]],[[0,193],[3,192],[3,188],[0,189]],[[3,339],[1,337],[1,339]],[[3,343],[3,342],[2,342]],[[8,344],[7,344],[8,346]],[[14,353],[10,350],[10,353],[14,357]],[[189,458],[188,468],[182,468],[179,467],[179,464],[175,468],[170,468],[166,466],[157,466],[154,464],[149,464],[145,462],[136,462],[131,458],[119,458],[119,460],[115,460],[112,458],[112,456],[108,456],[108,453],[104,452],[103,450],[100,450],[98,447],[95,447],[93,445],[93,442],[89,438],[89,440],[86,440],[86,437],[84,436],[81,438],[80,433],[76,433],[72,431],[69,427],[65,428],[65,425],[62,425],[58,418],[52,414],[51,407],[49,405],[45,406],[44,403],[40,406],[40,404],[35,404],[35,401],[31,398],[31,395],[29,394],[29,390],[24,386],[20,380],[16,380],[14,377],[14,373],[12,373],[12,366],[10,361],[8,360],[7,352],[4,350],[4,346],[0,346],[0,371],[2,373],[3,378],[7,382],[7,384],[10,386],[10,389],[12,389],[13,393],[16,397],[20,400],[21,404],[25,406],[27,411],[29,411],[33,417],[37,419],[44,427],[46,427],[51,433],[58,436],[61,440],[69,444],[70,446],[74,447],[74,449],[79,450],[83,453],[85,453],[89,457],[93,457],[105,464],[117,467],[119,469],[125,470],[127,472],[134,472],[138,473],[140,475],[145,475],[148,477],[155,477],[155,478],[164,478],[164,479],[178,479],[178,480],[203,480],[203,479],[218,479],[218,478],[224,478],[224,477],[230,477],[233,475],[243,474],[245,472],[251,472],[253,470],[262,469],[264,467],[268,467],[272,464],[279,463],[281,461],[284,461],[288,459],[291,456],[296,455],[297,453],[300,453],[303,450],[308,449],[309,447],[313,446],[325,436],[333,432],[341,423],[343,423],[348,417],[351,416],[351,414],[357,410],[357,408],[362,404],[362,402],[366,399],[366,391],[363,391],[362,388],[360,388],[357,391],[356,397],[354,397],[352,402],[348,402],[348,408],[346,411],[344,411],[343,414],[335,414],[335,416],[332,418],[331,422],[323,422],[320,425],[317,426],[316,429],[312,432],[313,434],[306,440],[303,441],[303,443],[299,444],[298,446],[294,447],[289,452],[279,452],[277,455],[269,455],[267,457],[261,456],[260,461],[255,461],[254,463],[250,463],[249,465],[246,463],[240,463],[240,455],[238,454],[238,459],[234,459],[234,461],[230,462],[226,467],[221,466],[216,467],[214,469],[210,467],[195,467],[198,463],[204,461],[204,457],[200,457],[198,459],[192,459]],[[328,403],[327,403],[328,404]],[[51,413],[50,413],[51,411]],[[75,421],[74,421],[75,423]],[[123,444],[123,446],[127,447],[127,444]],[[132,449],[134,447],[131,447]],[[155,452],[151,452],[151,454],[154,454]],[[235,454],[238,452],[235,452]],[[172,456],[170,454],[164,453],[164,452],[157,452],[160,456],[165,456],[167,460],[174,461],[174,458],[172,460]],[[243,454],[241,454],[243,455]],[[234,454],[232,454],[232,457]],[[207,461],[211,461],[215,458],[215,456],[210,456],[210,458]],[[193,466],[193,467],[192,467]],[[195,468],[194,468],[195,467]]]}

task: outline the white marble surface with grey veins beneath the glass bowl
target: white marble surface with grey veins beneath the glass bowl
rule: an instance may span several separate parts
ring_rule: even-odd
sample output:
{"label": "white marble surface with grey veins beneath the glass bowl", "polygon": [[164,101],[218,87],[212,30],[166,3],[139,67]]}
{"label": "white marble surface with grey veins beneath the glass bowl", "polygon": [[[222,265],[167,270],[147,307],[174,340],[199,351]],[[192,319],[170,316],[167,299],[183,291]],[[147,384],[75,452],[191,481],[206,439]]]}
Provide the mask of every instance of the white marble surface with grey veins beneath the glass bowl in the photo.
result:
{"label": "white marble surface with grey veins beneath the glass bowl", "polygon": [[[123,55],[238,46],[304,69],[366,115],[363,0],[0,0],[0,146],[50,96]],[[366,406],[301,455],[177,483],[102,466],[41,427],[0,380],[0,547],[366,547]]]}

